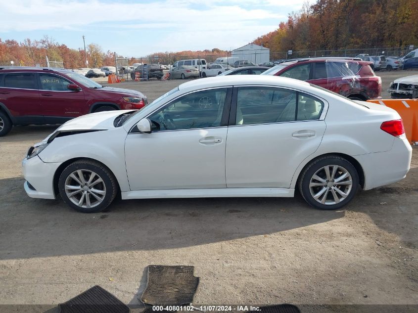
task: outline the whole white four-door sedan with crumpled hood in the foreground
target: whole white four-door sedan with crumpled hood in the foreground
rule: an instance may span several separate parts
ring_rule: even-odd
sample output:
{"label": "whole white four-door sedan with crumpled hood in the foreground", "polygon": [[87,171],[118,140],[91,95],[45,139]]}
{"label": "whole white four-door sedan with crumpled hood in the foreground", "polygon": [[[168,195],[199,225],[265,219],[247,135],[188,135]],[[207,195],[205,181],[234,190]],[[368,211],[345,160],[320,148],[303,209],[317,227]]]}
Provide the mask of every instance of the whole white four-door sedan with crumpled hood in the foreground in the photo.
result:
{"label": "whole white four-door sedan with crumpled hood in the foreground", "polygon": [[242,75],[180,85],[138,111],[75,118],[28,150],[24,188],[93,213],[122,199],[293,197],[337,209],[403,179],[399,114],[306,82]]}

